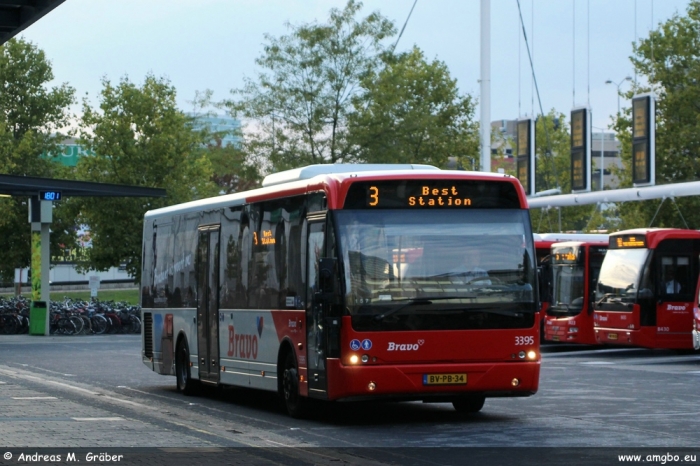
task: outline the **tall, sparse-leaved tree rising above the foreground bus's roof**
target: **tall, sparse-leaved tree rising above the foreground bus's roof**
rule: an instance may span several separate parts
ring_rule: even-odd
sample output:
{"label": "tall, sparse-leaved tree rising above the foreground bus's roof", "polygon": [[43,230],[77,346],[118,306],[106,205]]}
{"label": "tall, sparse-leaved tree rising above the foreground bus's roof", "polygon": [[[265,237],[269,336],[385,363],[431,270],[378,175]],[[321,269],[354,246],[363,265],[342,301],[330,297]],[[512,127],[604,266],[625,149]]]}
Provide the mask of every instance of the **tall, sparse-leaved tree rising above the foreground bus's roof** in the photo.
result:
{"label": "tall, sparse-leaved tree rising above the foreground bus's roof", "polygon": [[245,150],[272,171],[355,159],[348,141],[351,99],[379,63],[393,23],[378,13],[356,20],[362,4],[332,9],[326,24],[289,26],[266,36],[257,81],[248,79],[225,102],[234,116],[252,120]]}

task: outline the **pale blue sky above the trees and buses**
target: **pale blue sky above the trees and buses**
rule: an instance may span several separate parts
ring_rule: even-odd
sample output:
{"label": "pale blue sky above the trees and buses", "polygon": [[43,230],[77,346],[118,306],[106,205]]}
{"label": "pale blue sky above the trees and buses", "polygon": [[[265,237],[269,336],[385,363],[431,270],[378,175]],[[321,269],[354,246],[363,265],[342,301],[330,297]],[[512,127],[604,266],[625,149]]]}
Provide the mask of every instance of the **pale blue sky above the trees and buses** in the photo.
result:
{"label": "pale blue sky above the trees and buses", "polygon": [[[406,23],[411,8],[410,19]],[[593,131],[611,123],[618,86],[635,78],[632,43],[689,0],[520,0],[544,113],[568,117],[589,106]],[[170,80],[178,105],[192,111],[197,92],[229,98],[255,78],[265,34],[291,25],[325,23],[345,0],[66,0],[18,37],[42,49],[55,83],[68,83],[96,105],[104,78],[140,84],[147,74]],[[397,51],[414,45],[443,61],[460,92],[479,97],[480,0],[365,0],[361,15],[378,11],[406,24]],[[392,39],[392,42],[396,37]],[[540,113],[518,0],[491,0],[491,120]],[[640,81],[642,77],[636,77]],[[612,80],[616,84],[606,84]],[[622,108],[629,106],[620,99]],[[79,111],[79,106],[76,106]],[[479,119],[477,108],[475,118]]]}

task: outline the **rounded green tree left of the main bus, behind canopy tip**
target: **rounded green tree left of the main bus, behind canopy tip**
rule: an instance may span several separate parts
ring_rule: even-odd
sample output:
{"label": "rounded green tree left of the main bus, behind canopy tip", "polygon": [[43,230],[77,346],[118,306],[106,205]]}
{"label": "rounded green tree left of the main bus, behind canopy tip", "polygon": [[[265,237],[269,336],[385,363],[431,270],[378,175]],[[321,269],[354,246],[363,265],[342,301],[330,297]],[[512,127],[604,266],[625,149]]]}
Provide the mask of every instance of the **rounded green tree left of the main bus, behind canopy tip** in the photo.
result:
{"label": "rounded green tree left of the main bus, behind canopy tip", "polygon": [[125,263],[137,280],[143,215],[147,210],[215,195],[211,163],[201,150],[208,133],[195,130],[178,110],[174,87],[146,76],[142,86],[103,80],[99,109],[83,103],[80,144],[94,156],[80,159],[87,181],[164,188],[166,198],[76,198],[71,208],[89,226],[92,248],[83,268]]}

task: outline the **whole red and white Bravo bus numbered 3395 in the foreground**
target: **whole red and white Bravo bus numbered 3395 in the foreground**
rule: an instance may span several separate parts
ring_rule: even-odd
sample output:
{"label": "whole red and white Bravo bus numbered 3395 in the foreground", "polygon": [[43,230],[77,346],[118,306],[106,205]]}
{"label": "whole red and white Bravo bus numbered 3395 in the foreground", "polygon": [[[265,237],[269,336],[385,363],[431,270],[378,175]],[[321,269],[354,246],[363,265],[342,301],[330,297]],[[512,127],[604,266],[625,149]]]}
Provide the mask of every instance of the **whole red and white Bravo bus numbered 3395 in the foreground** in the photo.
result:
{"label": "whole red and white Bravo bus numbered 3395 in the foreground", "polygon": [[476,412],[537,392],[537,302],[510,176],[315,165],[144,217],[142,358],[185,394],[273,391],[295,417],[308,398]]}

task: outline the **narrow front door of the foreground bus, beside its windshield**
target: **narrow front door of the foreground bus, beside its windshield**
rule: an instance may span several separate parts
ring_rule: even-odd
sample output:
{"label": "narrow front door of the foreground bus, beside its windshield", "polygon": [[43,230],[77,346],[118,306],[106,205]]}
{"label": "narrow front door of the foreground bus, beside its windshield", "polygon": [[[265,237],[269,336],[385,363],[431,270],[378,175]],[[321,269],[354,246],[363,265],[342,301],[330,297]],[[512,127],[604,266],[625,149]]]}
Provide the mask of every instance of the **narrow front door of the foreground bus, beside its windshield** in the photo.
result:
{"label": "narrow front door of the foreground bus, beside its windshield", "polygon": [[309,219],[307,240],[306,292],[306,351],[309,395],[325,397],[326,339],[325,314],[327,306],[319,293],[319,260],[324,257],[325,216]]}

